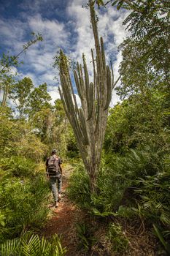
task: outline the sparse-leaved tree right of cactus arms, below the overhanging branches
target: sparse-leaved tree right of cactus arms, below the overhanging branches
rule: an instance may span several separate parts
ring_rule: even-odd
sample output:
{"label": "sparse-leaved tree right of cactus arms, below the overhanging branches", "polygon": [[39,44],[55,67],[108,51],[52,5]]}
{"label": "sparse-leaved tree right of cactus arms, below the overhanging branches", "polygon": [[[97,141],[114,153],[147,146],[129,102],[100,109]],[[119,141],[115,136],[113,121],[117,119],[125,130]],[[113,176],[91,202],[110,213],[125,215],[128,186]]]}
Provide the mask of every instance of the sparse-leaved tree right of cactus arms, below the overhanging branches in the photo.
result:
{"label": "sparse-leaved tree right of cactus arms, below the overhanging branches", "polygon": [[123,60],[120,63],[121,84],[117,86],[120,99],[142,94],[146,100],[152,89],[163,89],[166,85],[160,72],[156,72],[150,58],[144,56],[144,50],[133,39],[125,39],[119,46]]}

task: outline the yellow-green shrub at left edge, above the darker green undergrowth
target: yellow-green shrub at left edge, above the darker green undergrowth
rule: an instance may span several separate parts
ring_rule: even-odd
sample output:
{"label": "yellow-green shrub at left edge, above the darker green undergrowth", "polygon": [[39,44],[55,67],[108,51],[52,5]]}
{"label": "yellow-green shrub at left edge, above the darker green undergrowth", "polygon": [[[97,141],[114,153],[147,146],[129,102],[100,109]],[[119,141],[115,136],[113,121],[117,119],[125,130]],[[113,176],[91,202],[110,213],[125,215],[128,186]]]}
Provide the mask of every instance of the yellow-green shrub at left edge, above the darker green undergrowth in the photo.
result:
{"label": "yellow-green shrub at left edge, above the darker green undergrowth", "polygon": [[47,152],[47,146],[34,135],[34,130],[28,122],[9,119],[8,116],[2,115],[0,115],[0,122],[1,156],[18,155],[34,159],[35,162],[41,161],[43,155]]}

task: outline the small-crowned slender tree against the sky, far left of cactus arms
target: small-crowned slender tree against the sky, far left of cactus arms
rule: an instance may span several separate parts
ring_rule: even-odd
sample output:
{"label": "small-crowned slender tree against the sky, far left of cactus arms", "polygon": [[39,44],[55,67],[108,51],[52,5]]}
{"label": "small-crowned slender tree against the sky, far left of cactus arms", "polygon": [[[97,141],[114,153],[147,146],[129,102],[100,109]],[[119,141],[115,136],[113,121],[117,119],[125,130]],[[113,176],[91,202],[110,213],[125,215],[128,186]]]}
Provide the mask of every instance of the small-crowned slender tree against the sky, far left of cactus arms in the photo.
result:
{"label": "small-crowned slender tree against the sky, far left of cactus arms", "polygon": [[19,112],[19,118],[23,118],[28,110],[28,98],[31,94],[31,89],[34,88],[31,78],[23,78],[15,83],[9,90],[9,99],[15,103],[16,109]]}

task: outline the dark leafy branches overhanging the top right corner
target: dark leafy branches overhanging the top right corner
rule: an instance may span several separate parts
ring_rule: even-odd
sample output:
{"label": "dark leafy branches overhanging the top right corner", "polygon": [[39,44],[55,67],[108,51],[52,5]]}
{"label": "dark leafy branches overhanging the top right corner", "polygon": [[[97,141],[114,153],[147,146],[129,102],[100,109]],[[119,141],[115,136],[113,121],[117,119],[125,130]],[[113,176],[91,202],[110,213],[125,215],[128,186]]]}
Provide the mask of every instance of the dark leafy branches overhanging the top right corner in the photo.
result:
{"label": "dark leafy branches overhanging the top right corner", "polygon": [[147,58],[148,64],[152,65],[152,69],[162,76],[170,88],[170,1],[111,0],[105,5],[109,3],[116,5],[117,10],[125,8],[132,11],[123,21],[126,29],[131,32],[130,39],[142,52],[141,61]]}

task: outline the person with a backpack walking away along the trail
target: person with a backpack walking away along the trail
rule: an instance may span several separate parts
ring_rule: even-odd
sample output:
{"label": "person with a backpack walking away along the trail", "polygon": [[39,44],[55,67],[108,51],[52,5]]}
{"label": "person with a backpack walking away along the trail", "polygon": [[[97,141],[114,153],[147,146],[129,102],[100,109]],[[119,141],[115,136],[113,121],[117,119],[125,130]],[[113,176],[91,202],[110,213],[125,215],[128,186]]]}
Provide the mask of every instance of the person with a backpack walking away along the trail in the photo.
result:
{"label": "person with a backpack walking away along the trail", "polygon": [[58,207],[58,201],[61,200],[62,169],[61,158],[58,157],[56,153],[56,149],[53,149],[52,154],[47,158],[45,165],[47,177],[50,178],[50,185],[55,200],[54,206]]}

